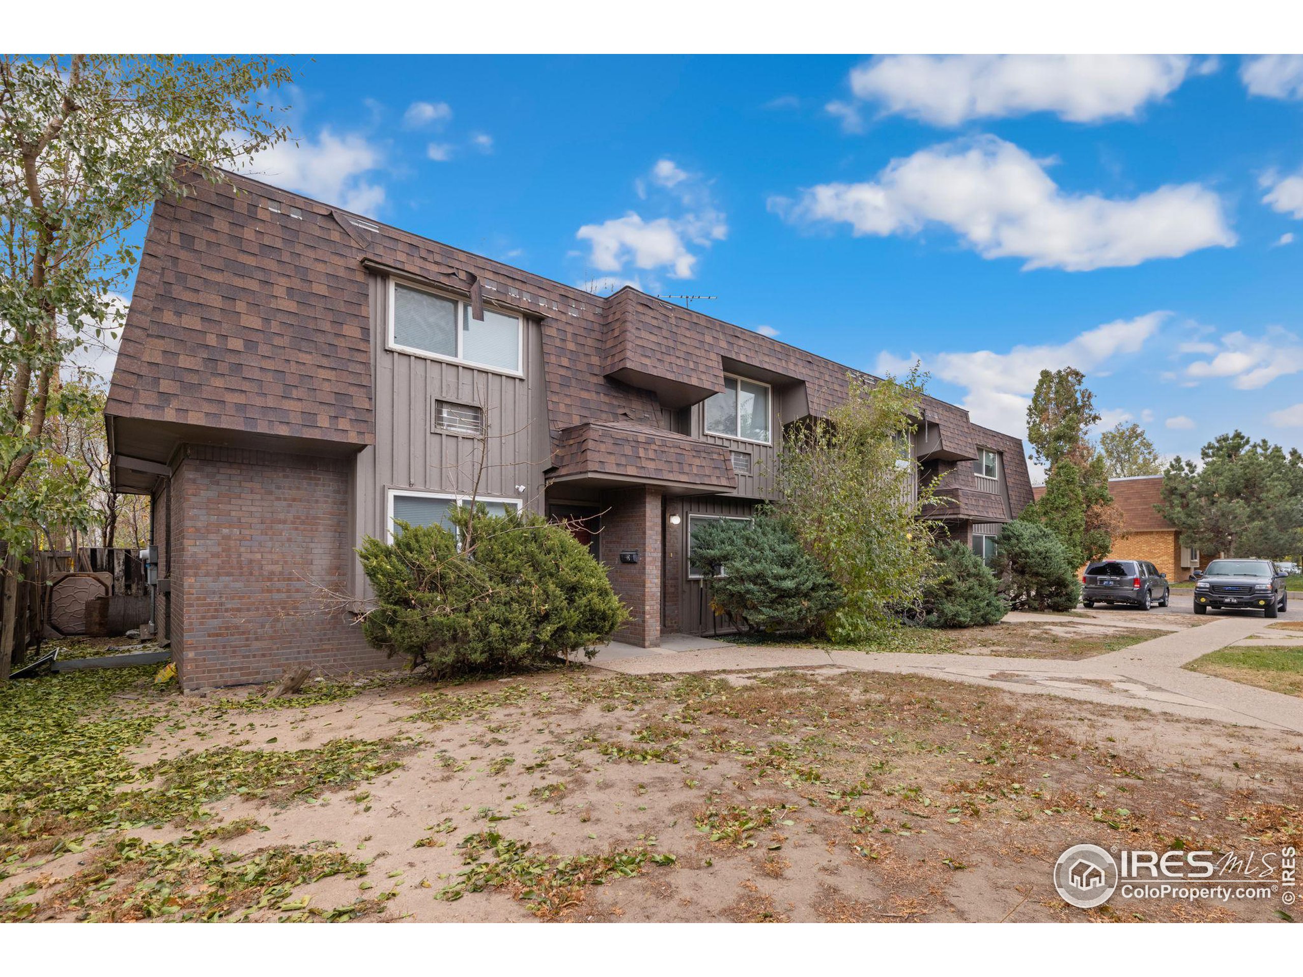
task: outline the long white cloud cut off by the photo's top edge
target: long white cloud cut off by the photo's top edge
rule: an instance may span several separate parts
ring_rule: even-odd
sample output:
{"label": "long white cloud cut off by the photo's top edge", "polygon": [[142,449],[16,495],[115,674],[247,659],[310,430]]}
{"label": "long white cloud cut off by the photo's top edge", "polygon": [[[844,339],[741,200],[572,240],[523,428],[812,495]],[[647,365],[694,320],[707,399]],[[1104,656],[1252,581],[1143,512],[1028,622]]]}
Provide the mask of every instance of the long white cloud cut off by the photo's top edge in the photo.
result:
{"label": "long white cloud cut off by the photo's top edge", "polygon": [[942,126],[1031,112],[1097,122],[1135,117],[1191,66],[1182,55],[889,55],[852,69],[851,91]]}

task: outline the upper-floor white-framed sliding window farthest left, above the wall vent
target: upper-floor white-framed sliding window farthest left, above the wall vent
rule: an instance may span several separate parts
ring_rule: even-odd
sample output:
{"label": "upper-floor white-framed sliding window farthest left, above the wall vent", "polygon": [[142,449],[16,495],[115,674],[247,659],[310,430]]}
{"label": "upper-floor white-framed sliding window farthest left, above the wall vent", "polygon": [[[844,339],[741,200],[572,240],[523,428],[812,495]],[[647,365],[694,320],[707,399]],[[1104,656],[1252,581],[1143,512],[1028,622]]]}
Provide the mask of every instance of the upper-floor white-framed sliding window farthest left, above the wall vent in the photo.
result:
{"label": "upper-floor white-framed sliding window farthest left, above the wall vent", "polygon": [[519,315],[485,309],[390,279],[388,348],[430,360],[523,376],[525,328]]}

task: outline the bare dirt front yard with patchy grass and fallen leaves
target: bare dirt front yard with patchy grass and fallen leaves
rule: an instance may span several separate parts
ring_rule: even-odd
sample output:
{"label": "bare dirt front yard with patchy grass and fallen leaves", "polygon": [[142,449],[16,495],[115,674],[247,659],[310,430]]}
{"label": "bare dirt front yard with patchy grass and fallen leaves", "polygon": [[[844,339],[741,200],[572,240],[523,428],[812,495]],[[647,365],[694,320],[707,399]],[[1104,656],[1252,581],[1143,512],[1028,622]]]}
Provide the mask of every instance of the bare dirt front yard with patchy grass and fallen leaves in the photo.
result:
{"label": "bare dirt front yard with patchy grass and fallen leaves", "polygon": [[1303,840],[1300,736],[924,677],[152,673],[0,692],[0,918],[1276,920],[1072,909],[1050,870]]}

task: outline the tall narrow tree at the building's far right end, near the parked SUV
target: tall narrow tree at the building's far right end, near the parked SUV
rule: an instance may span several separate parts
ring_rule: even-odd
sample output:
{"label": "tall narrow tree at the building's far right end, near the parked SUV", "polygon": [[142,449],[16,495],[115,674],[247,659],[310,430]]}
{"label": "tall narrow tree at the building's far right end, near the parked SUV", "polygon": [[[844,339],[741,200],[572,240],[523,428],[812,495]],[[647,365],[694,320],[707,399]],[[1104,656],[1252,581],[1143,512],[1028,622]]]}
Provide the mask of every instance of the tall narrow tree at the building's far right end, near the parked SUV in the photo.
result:
{"label": "tall narrow tree at the building's far right end, near the parked SUV", "polygon": [[1027,439],[1032,457],[1046,464],[1049,474],[1045,494],[1020,518],[1049,526],[1078,567],[1108,554],[1122,530],[1122,512],[1109,494],[1106,459],[1088,438],[1098,419],[1095,395],[1080,370],[1041,370],[1027,409]]}

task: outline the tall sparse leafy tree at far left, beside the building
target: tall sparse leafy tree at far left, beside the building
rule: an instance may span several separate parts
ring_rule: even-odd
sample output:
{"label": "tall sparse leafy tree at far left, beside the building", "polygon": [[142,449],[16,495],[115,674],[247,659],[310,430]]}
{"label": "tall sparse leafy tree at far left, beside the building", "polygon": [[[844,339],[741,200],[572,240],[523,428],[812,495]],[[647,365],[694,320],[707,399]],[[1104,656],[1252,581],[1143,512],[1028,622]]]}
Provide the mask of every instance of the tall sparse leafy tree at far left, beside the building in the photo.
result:
{"label": "tall sparse leafy tree at far left, beside the building", "polygon": [[83,479],[55,418],[76,409],[60,369],[85,336],[121,326],[112,298],[136,264],[125,241],[180,171],[219,168],[287,137],[263,103],[291,81],[268,57],[0,57],[0,535],[85,525]]}

